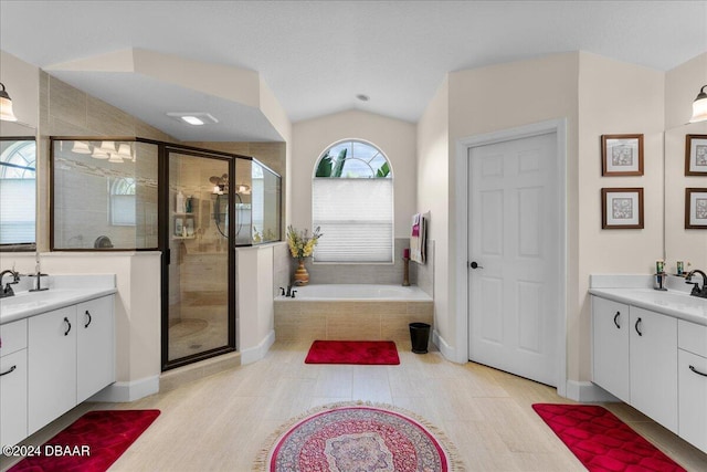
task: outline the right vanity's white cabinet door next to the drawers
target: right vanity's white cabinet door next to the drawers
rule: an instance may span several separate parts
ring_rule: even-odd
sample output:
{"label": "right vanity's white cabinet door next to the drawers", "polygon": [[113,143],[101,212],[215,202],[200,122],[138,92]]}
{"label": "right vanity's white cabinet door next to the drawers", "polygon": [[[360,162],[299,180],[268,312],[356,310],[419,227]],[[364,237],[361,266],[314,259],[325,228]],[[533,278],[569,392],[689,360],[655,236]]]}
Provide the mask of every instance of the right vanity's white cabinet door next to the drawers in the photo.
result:
{"label": "right vanity's white cabinet door next to the drawers", "polygon": [[677,318],[631,307],[630,403],[677,433]]}

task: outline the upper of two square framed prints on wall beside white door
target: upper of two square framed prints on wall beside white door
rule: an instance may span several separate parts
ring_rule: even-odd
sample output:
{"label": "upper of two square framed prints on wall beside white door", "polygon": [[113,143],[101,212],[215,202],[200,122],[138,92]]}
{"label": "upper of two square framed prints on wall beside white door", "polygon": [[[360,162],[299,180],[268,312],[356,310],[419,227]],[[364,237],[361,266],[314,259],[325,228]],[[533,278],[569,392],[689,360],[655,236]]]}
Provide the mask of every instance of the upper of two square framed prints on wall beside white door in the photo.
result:
{"label": "upper of two square framed prints on wall beside white door", "polygon": [[643,175],[643,135],[602,135],[601,175],[603,177]]}

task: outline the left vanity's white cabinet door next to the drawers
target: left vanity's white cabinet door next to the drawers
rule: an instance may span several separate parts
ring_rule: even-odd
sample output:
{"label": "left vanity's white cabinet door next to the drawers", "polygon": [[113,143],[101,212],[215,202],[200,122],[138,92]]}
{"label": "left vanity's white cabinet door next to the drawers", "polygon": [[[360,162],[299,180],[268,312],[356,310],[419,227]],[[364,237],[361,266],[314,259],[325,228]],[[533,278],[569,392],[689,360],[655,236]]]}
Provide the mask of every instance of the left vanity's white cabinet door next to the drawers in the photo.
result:
{"label": "left vanity's white cabinet door next to the drawers", "polygon": [[76,306],[29,321],[29,433],[76,406]]}

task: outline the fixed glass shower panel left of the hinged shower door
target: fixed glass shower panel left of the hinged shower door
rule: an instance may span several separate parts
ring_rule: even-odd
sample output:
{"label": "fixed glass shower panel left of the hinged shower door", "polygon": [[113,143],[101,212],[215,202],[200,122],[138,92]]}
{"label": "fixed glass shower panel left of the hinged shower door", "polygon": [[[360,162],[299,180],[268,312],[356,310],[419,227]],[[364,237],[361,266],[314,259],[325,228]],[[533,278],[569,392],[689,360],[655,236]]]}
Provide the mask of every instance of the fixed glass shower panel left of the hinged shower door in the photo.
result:
{"label": "fixed glass shower panel left of the hinged shower door", "polygon": [[158,146],[51,139],[52,250],[158,247]]}

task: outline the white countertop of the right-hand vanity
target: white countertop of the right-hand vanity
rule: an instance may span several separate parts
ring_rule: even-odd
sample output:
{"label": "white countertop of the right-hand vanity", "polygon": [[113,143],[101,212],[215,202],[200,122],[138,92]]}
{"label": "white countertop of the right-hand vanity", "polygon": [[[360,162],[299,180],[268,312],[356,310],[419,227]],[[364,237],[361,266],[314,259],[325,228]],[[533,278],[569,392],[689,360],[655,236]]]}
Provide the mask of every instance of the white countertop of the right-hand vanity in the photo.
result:
{"label": "white countertop of the right-hand vanity", "polygon": [[692,296],[683,291],[661,292],[653,289],[590,289],[592,295],[625,303],[698,325],[707,326],[707,298]]}

